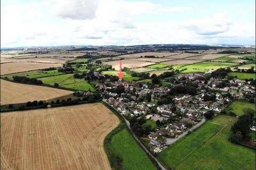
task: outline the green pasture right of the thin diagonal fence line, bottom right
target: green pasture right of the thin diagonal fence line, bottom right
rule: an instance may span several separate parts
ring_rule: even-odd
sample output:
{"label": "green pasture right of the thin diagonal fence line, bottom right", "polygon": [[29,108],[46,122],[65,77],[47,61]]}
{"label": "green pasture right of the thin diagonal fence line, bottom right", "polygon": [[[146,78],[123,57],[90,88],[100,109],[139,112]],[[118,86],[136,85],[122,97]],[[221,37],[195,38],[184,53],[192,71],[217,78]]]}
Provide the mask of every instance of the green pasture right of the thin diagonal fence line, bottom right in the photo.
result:
{"label": "green pasture right of the thin diagonal fence line, bottom right", "polygon": [[[230,122],[230,119],[233,121]],[[228,140],[231,125],[235,121],[236,118],[226,115],[218,115],[209,121],[209,123],[224,125],[223,129],[192,152],[174,169],[255,169],[255,150],[235,145]],[[206,127],[202,126],[198,131],[204,128]]]}

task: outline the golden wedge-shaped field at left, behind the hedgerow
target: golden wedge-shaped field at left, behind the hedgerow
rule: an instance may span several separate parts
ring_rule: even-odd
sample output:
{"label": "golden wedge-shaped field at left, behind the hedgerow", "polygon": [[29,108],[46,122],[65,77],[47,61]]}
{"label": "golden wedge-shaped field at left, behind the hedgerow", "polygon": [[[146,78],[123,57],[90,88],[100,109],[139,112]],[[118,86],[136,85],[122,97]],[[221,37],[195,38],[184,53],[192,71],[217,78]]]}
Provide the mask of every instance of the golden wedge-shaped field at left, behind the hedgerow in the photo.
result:
{"label": "golden wedge-shaped field at left, behind the hedgerow", "polygon": [[71,93],[73,93],[73,91],[13,83],[1,79],[1,105],[26,103],[27,101],[34,100],[47,100]]}

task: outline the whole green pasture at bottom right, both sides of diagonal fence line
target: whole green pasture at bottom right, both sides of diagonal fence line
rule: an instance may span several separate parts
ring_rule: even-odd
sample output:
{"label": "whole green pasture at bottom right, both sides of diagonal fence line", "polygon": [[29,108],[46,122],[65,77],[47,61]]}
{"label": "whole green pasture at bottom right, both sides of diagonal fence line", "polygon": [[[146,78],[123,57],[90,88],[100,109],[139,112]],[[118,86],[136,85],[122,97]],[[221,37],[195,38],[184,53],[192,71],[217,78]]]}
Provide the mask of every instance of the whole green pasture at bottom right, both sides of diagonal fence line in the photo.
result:
{"label": "whole green pasture at bottom right, both sides of diagonal fence line", "polygon": [[174,169],[254,169],[255,150],[228,141],[235,121],[234,117],[218,115],[158,157]]}

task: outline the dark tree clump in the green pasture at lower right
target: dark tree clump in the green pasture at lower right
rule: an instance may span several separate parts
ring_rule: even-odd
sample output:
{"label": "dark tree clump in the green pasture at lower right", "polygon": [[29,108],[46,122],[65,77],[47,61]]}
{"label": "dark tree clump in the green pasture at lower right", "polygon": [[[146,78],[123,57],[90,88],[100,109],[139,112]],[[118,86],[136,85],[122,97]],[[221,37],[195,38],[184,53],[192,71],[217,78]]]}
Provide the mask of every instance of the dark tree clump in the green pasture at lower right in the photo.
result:
{"label": "dark tree clump in the green pasture at lower right", "polygon": [[239,116],[238,121],[231,126],[231,131],[233,133],[241,132],[244,140],[250,140],[250,124],[251,116],[249,114],[244,114]]}

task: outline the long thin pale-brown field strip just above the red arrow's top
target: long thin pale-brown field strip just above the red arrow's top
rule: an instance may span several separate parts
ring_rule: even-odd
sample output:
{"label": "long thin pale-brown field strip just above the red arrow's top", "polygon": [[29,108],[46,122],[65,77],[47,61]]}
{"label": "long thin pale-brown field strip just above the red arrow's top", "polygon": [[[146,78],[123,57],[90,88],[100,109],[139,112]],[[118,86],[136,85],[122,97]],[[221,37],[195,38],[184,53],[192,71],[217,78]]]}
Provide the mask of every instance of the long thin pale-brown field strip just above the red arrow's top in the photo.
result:
{"label": "long thin pale-brown field strip just above the red arrow's top", "polygon": [[135,53],[135,54],[125,54],[125,55],[120,55],[116,56],[117,58],[138,58],[138,57],[144,57],[146,55],[154,55],[156,57],[167,57],[167,56],[172,56],[176,55],[177,53],[170,53],[170,52],[164,52],[164,53],[157,53],[157,52],[147,52],[147,53]]}

